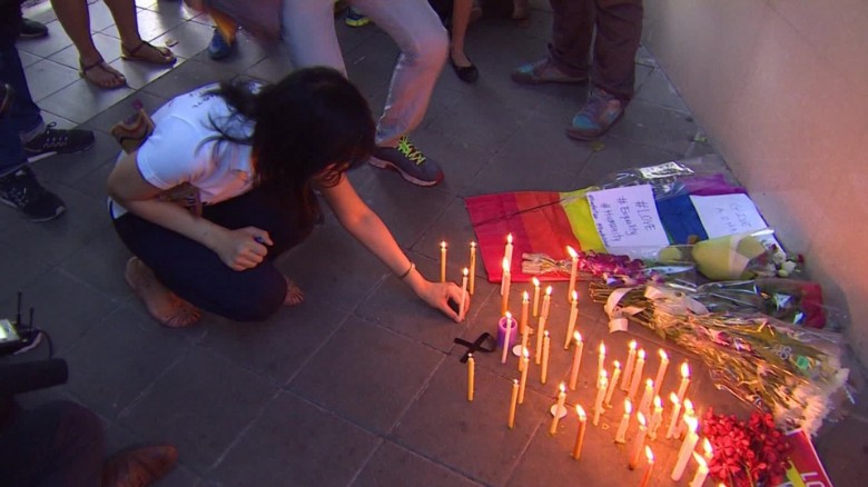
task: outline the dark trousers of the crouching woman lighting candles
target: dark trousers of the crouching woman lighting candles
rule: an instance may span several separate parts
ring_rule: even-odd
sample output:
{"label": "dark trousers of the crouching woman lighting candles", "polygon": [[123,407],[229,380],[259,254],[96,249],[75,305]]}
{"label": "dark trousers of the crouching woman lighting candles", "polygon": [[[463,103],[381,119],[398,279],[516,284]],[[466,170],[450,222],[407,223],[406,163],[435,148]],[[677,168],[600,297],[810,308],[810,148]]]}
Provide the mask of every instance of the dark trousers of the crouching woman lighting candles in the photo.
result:
{"label": "dark trousers of the crouching woman lighting candles", "polygon": [[235,321],[262,321],[277,312],[286,297],[286,280],[274,259],[313,229],[299,225],[296,216],[278,195],[260,188],[203,208],[203,218],[228,229],[268,231],[274,242],[268,257],[243,271],[230,269],[201,244],[132,213],[116,219],[115,230],[164,286],[194,306]]}

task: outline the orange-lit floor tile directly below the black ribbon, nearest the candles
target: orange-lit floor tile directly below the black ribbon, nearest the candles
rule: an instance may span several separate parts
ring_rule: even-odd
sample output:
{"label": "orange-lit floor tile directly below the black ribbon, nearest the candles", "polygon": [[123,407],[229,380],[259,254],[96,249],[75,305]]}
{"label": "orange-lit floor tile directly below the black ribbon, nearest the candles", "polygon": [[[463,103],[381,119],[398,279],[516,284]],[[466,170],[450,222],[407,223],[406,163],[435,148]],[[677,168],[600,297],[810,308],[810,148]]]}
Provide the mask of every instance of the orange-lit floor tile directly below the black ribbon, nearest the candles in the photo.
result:
{"label": "orange-lit floor tile directly below the black ribbon, nearest the candles", "polygon": [[549,398],[527,390],[506,427],[512,381],[477,367],[468,402],[466,366],[450,358],[401,419],[393,439],[485,485],[503,485],[540,426]]}

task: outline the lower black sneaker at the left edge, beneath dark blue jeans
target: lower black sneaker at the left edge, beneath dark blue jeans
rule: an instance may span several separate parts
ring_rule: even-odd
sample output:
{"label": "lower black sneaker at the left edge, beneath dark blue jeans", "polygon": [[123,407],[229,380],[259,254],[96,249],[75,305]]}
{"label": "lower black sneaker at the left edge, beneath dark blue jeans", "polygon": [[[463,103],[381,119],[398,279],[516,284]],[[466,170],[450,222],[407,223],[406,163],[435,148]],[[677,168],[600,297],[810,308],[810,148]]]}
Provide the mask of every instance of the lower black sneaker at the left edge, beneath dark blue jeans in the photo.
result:
{"label": "lower black sneaker at the left edge, beneath dark blue jeans", "polygon": [[0,178],[0,201],[18,208],[30,221],[53,220],[67,210],[63,201],[42,188],[27,166]]}

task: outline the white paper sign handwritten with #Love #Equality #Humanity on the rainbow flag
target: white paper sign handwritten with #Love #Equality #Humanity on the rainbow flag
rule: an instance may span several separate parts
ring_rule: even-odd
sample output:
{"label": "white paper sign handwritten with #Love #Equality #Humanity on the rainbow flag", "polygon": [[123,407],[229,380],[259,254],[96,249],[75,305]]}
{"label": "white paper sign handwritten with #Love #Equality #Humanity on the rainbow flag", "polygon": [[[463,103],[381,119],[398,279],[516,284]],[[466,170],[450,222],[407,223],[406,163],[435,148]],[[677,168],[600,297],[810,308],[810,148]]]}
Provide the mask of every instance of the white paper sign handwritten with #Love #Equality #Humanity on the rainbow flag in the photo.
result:
{"label": "white paper sign handwritten with #Love #Equality #Humanity on the rainbow flag", "polygon": [[669,245],[650,185],[592,191],[588,193],[588,202],[596,232],[610,252],[619,254],[619,248],[660,249]]}

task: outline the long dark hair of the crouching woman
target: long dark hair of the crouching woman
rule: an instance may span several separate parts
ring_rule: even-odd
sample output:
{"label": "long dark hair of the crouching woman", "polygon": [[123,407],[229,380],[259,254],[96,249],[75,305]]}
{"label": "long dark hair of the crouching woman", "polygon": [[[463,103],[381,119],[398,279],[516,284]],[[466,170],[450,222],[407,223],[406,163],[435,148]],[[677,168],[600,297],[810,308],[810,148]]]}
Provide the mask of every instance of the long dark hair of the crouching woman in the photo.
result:
{"label": "long dark hair of the crouching woman", "polygon": [[344,171],[374,151],[376,128],[367,102],[332,68],[302,69],[259,91],[250,83],[221,82],[216,93],[235,116],[255,123],[253,136],[240,139],[230,123],[211,121],[220,139],[253,146],[257,186],[297,205],[302,225],[319,217],[313,178],[337,185]]}

